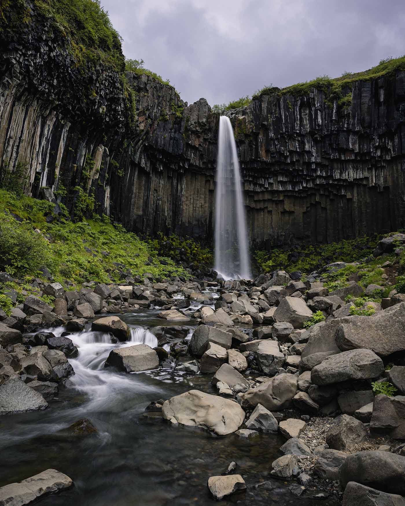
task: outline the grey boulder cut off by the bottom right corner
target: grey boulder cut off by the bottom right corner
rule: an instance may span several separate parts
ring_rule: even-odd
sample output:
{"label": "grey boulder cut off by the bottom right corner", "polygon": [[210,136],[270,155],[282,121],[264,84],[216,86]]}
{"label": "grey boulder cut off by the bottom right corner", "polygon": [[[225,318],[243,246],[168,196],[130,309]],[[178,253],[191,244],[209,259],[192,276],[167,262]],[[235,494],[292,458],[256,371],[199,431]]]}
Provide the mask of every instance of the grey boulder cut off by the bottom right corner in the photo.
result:
{"label": "grey boulder cut off by the bottom right corner", "polygon": [[405,499],[397,494],[381,492],[349,481],[343,494],[342,506],[405,506]]}

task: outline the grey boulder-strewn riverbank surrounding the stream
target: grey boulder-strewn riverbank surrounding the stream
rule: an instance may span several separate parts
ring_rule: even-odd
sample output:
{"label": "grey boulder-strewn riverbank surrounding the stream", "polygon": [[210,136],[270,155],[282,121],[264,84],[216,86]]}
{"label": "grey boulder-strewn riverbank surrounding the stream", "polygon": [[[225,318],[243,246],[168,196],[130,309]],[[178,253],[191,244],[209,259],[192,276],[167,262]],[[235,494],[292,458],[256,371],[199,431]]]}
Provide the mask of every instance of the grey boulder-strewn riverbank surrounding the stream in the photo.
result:
{"label": "grey boulder-strewn riverbank surrounding the stream", "polygon": [[[268,462],[268,480],[258,487],[276,489],[283,480],[302,498],[349,505],[373,504],[377,496],[402,504],[405,296],[390,290],[395,260],[387,259],[404,242],[396,234],[375,251],[387,273],[384,286],[351,280],[331,290],[325,285],[334,273],[358,276],[355,264],[343,263],[306,276],[274,271],[249,282],[145,275],[141,283],[84,283],[66,291],[52,279],[36,279],[38,296],[48,295],[53,305],[28,295],[10,316],[0,316],[0,411],[43,410],[59,389],[72,388],[69,360],[80,349],[69,335],[91,330],[118,345],[105,360],[109,368],[129,373],[170,366],[184,377],[208,378],[211,386],[197,382],[180,395],[151,399],[148,418],[235,434],[247,444],[259,434],[269,441],[280,434],[280,457]],[[376,297],[383,291],[389,296]],[[131,345],[137,340],[117,315],[150,308],[161,320],[151,329],[157,346]],[[192,333],[190,327],[196,327]],[[243,496],[249,472],[234,474],[235,466],[207,476],[215,498]]]}

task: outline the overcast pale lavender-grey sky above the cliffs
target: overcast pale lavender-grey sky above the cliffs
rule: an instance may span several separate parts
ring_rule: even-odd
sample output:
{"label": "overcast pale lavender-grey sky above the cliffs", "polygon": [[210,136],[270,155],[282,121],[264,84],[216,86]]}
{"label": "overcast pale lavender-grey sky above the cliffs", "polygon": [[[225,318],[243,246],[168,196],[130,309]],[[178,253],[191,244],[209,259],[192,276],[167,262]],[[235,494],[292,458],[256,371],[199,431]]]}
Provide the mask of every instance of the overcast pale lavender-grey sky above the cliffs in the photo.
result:
{"label": "overcast pale lavender-grey sky above the cliffs", "polygon": [[403,0],[101,0],[127,58],[213,105],[405,53]]}

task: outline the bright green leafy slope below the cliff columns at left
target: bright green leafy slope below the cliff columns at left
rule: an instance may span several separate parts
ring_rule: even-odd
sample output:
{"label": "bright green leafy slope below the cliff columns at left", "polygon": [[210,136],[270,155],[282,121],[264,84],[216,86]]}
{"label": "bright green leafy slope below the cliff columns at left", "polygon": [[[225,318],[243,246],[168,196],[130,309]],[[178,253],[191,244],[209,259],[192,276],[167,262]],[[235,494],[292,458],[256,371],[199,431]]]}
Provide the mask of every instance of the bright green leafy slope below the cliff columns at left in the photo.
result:
{"label": "bright green leafy slope below the cliff columns at left", "polygon": [[[107,217],[93,215],[93,220],[76,223],[64,217],[47,223],[53,207],[45,200],[0,190],[0,270],[16,277],[36,276],[45,266],[62,283],[119,281],[120,270],[134,276],[151,273],[155,279],[189,277],[171,258],[159,257],[152,242]],[[152,265],[145,265],[149,257]]]}

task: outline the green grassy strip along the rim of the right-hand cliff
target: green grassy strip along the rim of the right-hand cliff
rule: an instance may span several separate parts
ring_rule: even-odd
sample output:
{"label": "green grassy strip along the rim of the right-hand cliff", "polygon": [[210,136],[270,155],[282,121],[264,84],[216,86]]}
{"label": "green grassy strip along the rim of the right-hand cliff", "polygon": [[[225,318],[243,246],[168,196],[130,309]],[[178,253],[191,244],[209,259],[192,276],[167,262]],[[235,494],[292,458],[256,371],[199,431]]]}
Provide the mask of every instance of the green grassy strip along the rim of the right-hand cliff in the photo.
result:
{"label": "green grassy strip along the rim of the right-hand cliff", "polygon": [[316,88],[326,93],[330,93],[331,99],[343,98],[340,97],[342,89],[351,87],[353,82],[359,80],[377,79],[383,75],[394,74],[397,70],[405,70],[405,55],[399,58],[386,58],[381,60],[378,65],[369,70],[361,72],[343,72],[340,77],[331,78],[328,75],[323,75],[312,79],[311,81],[298,82],[296,85],[287,86],[285,88],[276,88],[273,86],[264,87],[262,90],[257,91],[253,95],[253,99],[259,98],[261,95],[270,95],[277,93],[282,95],[293,95],[301,97],[310,93],[312,88]]}

